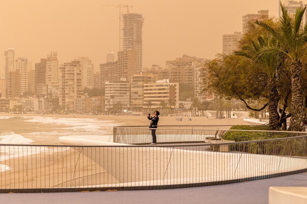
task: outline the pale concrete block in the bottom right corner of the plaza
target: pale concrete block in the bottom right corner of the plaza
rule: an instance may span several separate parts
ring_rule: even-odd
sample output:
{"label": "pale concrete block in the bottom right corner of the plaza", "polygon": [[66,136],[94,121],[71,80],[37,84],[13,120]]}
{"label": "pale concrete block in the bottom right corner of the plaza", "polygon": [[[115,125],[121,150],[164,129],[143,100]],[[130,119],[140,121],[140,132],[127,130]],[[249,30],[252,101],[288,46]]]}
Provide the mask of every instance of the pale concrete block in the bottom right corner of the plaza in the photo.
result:
{"label": "pale concrete block in the bottom right corner of the plaza", "polygon": [[306,204],[307,187],[270,187],[269,204]]}

